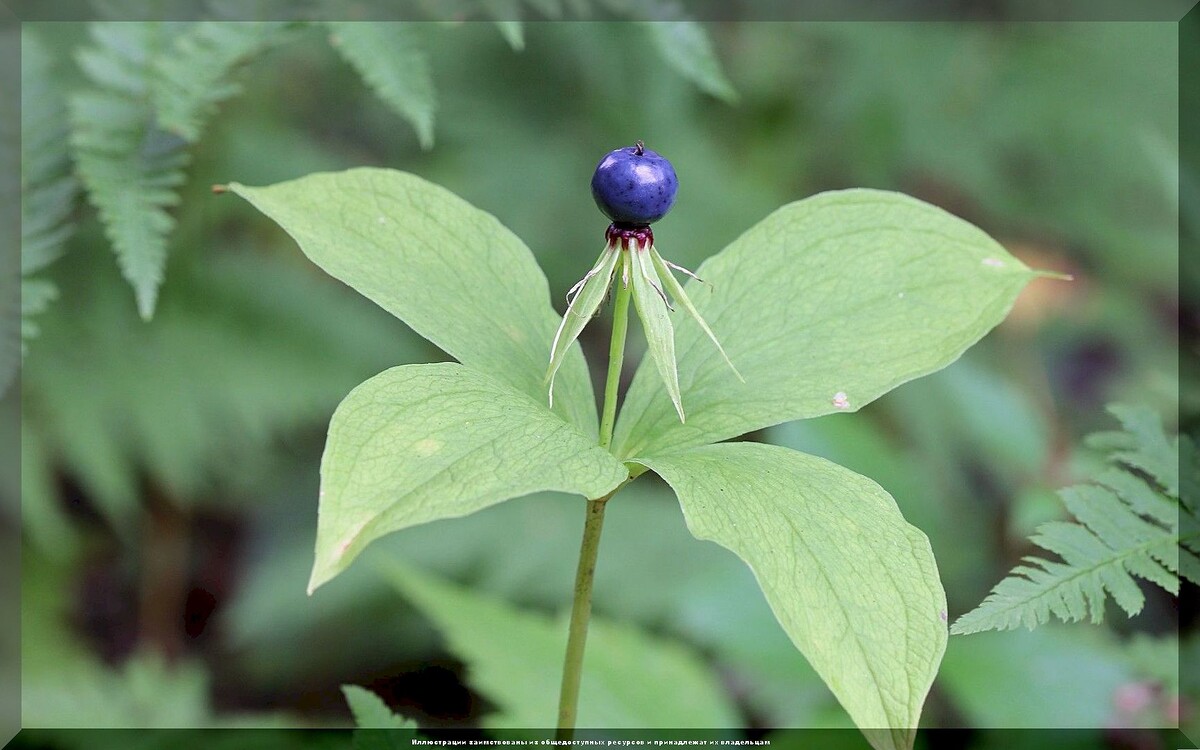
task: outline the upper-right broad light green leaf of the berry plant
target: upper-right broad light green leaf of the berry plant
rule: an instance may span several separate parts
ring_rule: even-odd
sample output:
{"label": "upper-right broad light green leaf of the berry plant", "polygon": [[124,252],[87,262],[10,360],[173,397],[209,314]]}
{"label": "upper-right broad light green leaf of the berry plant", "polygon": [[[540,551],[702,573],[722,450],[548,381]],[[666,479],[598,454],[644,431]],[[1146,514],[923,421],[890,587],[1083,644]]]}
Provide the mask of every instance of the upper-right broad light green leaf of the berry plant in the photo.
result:
{"label": "upper-right broad light green leaf of the berry plant", "polygon": [[1034,274],[938,208],[848,190],[779,209],[697,275],[710,288],[692,282],[689,294],[745,383],[682,318],[676,352],[688,422],[643,362],[617,422],[619,456],[856,410],[958,359]]}

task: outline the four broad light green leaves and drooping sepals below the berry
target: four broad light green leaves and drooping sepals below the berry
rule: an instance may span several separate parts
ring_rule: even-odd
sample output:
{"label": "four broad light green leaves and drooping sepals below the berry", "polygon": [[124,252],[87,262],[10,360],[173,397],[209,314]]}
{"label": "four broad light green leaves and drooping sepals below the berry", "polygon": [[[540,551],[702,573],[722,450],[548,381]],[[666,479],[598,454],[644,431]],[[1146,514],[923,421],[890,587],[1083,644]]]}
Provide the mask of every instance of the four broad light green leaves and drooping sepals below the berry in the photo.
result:
{"label": "four broad light green leaves and drooping sepals below the berry", "polygon": [[[660,306],[653,314],[674,329],[678,389],[652,340],[613,424],[610,362],[612,439],[601,444],[578,331],[556,336],[545,276],[494,217],[389,169],[229,190],[457,360],[395,367],[338,407],[310,590],[390,532],[546,490],[588,498],[590,514],[649,469],[674,488],[695,536],[749,564],[780,625],[871,744],[912,745],[947,637],[924,534],[878,485],[836,464],[714,443],[856,410],[948,365],[1003,319],[1033,271],[941,209],[871,190],[776,210],[697,270],[710,286],[690,295],[694,304],[654,256],[643,254],[641,269],[626,260],[631,280],[656,271],[690,316],[671,322],[665,300],[643,286]],[[619,260],[604,256],[590,277],[614,274]],[[617,284],[614,334],[623,336],[631,295]],[[564,325],[582,328],[602,296],[584,283],[572,300],[578,320]],[[718,356],[714,331],[744,383]]]}

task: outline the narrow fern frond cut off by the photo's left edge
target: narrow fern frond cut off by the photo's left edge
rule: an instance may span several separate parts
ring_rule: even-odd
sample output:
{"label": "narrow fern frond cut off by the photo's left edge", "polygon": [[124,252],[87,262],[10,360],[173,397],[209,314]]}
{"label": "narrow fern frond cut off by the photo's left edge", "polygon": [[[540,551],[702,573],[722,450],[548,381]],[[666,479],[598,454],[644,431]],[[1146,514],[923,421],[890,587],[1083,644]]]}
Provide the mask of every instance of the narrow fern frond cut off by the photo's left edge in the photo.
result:
{"label": "narrow fern frond cut off by the photo's left edge", "polygon": [[34,316],[58,296],[54,284],[30,278],[53,263],[74,232],[78,184],[71,174],[66,102],[42,41],[22,31],[20,65],[20,352],[37,335]]}

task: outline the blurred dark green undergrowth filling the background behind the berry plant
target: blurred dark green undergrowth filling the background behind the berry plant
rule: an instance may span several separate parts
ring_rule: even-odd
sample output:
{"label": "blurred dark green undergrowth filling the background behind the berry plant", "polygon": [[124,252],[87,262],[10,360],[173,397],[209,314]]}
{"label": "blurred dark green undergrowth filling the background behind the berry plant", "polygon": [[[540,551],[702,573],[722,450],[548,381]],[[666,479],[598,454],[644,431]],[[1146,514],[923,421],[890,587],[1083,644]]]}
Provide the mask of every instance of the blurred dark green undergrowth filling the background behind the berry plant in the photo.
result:
{"label": "blurred dark green undergrowth filling the background behind the berry plant", "polygon": [[[40,331],[22,377],[23,614],[36,618],[23,644],[26,724],[122,722],[136,710],[176,725],[250,714],[349,726],[342,684],[371,689],[421,726],[478,725],[488,708],[468,686],[470,665],[371,565],[304,594],[329,416],[356,383],[438,353],[323,276],[251,209],[212,196],[216,182],[359,164],[416,173],[520,235],[559,304],[602,242],[588,194],[595,162],[641,138],[679,174],[678,204],[655,234],[690,268],[782,203],[863,185],[942,205],[1030,265],[1073,274],[1036,282],[1012,319],[948,370],[859,414],[752,436],[893,493],[930,536],[952,620],[1030,552],[1033,526],[1062,512],[1046,497],[1087,475],[1080,439],[1108,426],[1104,403],[1177,412],[1176,313],[1198,295],[1180,295],[1174,232],[1177,211],[1194,216],[1198,205],[1194,191],[1181,206],[1174,199],[1188,179],[1175,170],[1174,24],[704,31],[721,68],[682,76],[680,40],[652,41],[626,22],[430,24],[421,40],[437,113],[434,146],[422,150],[325,43],[326,30],[289,30],[236,68],[229,80],[241,92],[220,97],[187,146],[150,322],[96,212],[65,198],[71,210],[46,236],[76,229],[61,258],[50,263],[52,248],[30,269],[58,299],[28,311]],[[26,34],[50,72],[46,98],[23,103],[59,112],[53,97],[89,85],[78,56],[92,42],[79,24]],[[61,160],[36,181],[60,196],[74,190]],[[86,181],[84,164],[74,169]],[[604,324],[590,326],[584,347],[606,337]],[[1168,427],[1194,431],[1196,407],[1184,397]],[[535,496],[402,532],[365,557],[398,557],[557,612],[582,516],[576,498]],[[184,540],[181,553],[161,554],[163,528]],[[646,480],[610,509],[595,607],[698,653],[751,736],[847,726],[749,576],[732,554],[692,540],[670,491]],[[1196,612],[1145,593],[1142,614],[1103,628],[952,638],[925,721],[1134,726],[1169,719],[1172,706],[1194,720],[1194,678],[1176,684],[1163,665],[1172,646],[1195,653]],[[1176,629],[1182,646],[1165,635]],[[1122,688],[1139,684],[1154,686],[1153,701],[1120,703]]]}

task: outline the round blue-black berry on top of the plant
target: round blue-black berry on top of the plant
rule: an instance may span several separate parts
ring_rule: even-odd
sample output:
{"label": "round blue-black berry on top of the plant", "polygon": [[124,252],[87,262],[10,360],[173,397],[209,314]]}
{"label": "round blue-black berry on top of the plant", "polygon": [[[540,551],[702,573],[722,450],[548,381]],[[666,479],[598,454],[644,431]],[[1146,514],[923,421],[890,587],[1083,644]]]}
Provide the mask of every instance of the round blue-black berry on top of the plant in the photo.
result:
{"label": "round blue-black berry on top of the plant", "polygon": [[638,140],[610,151],[592,175],[592,197],[616,224],[646,227],[667,215],[679,180],[674,167]]}

